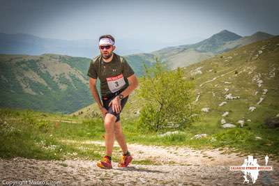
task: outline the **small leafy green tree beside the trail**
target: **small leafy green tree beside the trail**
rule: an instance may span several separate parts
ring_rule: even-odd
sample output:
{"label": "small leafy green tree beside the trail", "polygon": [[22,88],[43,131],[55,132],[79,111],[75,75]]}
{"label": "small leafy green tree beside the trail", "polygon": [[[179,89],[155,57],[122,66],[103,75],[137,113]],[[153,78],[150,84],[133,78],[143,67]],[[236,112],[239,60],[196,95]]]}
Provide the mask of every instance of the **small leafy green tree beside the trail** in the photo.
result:
{"label": "small leafy green tree beside the trail", "polygon": [[183,70],[168,71],[156,59],[156,65],[145,68],[138,90],[144,104],[139,126],[144,130],[181,129],[193,122],[193,82],[183,78]]}

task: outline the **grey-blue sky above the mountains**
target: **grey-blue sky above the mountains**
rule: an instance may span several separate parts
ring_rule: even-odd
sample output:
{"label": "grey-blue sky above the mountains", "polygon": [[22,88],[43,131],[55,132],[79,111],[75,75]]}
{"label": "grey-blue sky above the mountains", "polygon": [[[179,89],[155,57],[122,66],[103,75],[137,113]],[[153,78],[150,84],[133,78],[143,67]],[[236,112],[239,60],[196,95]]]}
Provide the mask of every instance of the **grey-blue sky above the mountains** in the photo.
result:
{"label": "grey-blue sky above the mountains", "polygon": [[271,0],[0,0],[0,32],[43,38],[119,40],[175,45],[209,38],[224,29],[241,36],[279,35],[279,1]]}

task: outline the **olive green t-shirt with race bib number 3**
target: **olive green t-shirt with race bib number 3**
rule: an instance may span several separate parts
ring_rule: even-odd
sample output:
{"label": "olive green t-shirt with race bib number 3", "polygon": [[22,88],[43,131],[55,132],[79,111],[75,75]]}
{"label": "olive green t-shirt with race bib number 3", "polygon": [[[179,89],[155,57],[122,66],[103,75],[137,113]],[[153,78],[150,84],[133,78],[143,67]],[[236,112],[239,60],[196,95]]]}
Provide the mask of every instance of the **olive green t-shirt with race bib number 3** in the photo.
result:
{"label": "olive green t-shirt with race bib number 3", "polygon": [[129,85],[127,77],[134,73],[126,59],[114,53],[112,61],[108,63],[100,55],[93,59],[87,75],[100,79],[100,93],[103,96],[123,91]]}

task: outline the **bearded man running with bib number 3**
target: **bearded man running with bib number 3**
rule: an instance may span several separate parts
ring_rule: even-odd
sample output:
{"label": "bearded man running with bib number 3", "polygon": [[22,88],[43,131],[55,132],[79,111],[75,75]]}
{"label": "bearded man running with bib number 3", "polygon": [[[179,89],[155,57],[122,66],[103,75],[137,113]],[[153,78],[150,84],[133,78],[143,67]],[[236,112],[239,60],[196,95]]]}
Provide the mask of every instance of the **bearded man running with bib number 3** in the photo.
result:
{"label": "bearded man running with bib number 3", "polygon": [[[120,113],[128,100],[128,95],[137,88],[135,73],[128,62],[115,54],[114,38],[110,35],[100,36],[100,55],[90,63],[87,75],[89,87],[103,114],[105,126],[105,157],[97,162],[103,169],[112,169],[112,148],[114,136],[123,151],[118,166],[126,167],[132,161],[120,123]],[[96,89],[96,80],[100,79],[102,102]]]}

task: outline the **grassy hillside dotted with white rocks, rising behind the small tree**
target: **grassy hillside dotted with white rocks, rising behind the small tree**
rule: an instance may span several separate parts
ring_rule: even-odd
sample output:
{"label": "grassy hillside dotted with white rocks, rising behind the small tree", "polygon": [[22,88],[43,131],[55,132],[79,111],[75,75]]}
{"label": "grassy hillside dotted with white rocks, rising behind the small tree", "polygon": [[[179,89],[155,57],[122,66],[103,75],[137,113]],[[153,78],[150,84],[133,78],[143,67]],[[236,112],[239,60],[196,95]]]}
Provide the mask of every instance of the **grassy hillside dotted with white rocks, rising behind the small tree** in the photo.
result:
{"label": "grassy hillside dotted with white rocks, rising behind the small tree", "polygon": [[[236,126],[242,121],[250,125],[279,114],[278,59],[279,36],[275,36],[184,67],[185,79],[195,84],[197,107],[208,108],[203,109],[206,117],[199,124],[208,127],[207,123],[215,123],[214,127],[220,127],[223,119]],[[123,109],[123,117],[139,116],[140,105],[135,92]],[[73,114],[92,113],[99,113],[96,104]]]}

